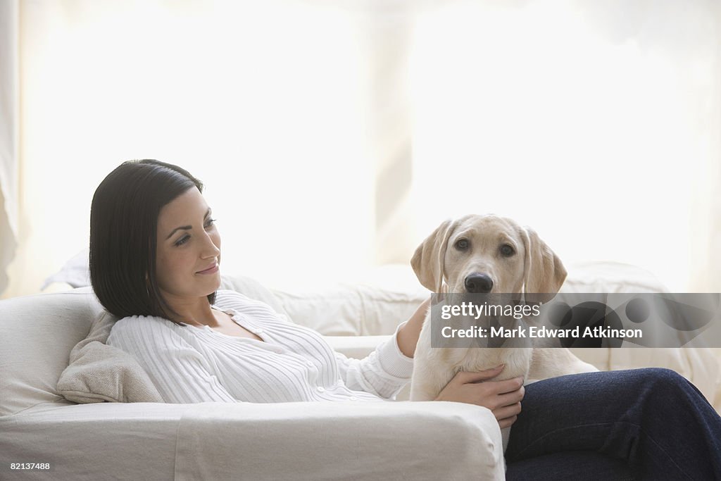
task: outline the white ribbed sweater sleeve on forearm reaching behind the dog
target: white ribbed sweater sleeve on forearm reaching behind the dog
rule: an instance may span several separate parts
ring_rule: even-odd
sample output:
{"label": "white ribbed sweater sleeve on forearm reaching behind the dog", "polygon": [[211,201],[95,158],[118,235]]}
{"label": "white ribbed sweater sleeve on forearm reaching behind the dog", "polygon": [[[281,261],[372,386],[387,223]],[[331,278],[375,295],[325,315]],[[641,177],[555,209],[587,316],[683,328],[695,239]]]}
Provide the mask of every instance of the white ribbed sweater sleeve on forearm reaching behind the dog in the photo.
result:
{"label": "white ribbed sweater sleeve on forearm reaching behind the dog", "polygon": [[335,353],[340,376],[346,386],[385,399],[395,399],[413,371],[413,359],[405,356],[398,347],[398,329],[402,325],[366,358],[353,359]]}

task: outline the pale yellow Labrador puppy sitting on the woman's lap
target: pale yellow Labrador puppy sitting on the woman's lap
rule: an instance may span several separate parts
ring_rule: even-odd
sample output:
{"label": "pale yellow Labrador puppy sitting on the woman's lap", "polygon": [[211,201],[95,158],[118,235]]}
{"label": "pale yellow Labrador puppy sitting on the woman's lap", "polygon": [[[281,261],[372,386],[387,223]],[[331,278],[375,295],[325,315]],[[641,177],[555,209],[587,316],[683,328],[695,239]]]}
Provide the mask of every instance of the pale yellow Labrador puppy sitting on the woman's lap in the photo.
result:
{"label": "pale yellow Labrador puppy sitting on the woman's lap", "polygon": [[[469,215],[443,222],[418,246],[411,265],[435,293],[529,294],[552,298],[566,278],[559,257],[532,229],[495,215]],[[523,376],[525,382],[598,371],[565,348],[432,348],[430,309],[414,356],[410,400],[435,400],[459,371],[505,364],[492,380]],[[503,430],[504,444],[508,428]]]}

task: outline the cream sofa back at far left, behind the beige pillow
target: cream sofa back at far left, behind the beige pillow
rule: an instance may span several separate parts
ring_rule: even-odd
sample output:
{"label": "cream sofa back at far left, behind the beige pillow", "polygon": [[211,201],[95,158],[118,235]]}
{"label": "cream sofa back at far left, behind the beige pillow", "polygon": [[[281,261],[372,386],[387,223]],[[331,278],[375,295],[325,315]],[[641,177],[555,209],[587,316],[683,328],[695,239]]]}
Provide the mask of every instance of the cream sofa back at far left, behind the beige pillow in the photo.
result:
{"label": "cream sofa back at far left, behind the beige pillow", "polygon": [[90,288],[0,301],[0,416],[62,399],[70,351],[103,312]]}

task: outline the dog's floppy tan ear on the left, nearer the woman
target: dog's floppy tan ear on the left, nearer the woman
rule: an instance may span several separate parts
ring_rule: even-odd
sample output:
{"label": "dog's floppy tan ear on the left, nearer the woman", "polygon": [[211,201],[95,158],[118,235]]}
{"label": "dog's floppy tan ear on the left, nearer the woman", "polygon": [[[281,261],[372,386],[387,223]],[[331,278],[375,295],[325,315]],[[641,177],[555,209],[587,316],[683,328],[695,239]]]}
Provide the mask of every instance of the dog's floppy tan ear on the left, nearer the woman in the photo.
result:
{"label": "dog's floppy tan ear on the left, nearer the woman", "polygon": [[448,219],[438,226],[415,250],[410,265],[425,288],[432,292],[441,292],[443,287],[443,260],[446,258],[448,237],[455,226]]}

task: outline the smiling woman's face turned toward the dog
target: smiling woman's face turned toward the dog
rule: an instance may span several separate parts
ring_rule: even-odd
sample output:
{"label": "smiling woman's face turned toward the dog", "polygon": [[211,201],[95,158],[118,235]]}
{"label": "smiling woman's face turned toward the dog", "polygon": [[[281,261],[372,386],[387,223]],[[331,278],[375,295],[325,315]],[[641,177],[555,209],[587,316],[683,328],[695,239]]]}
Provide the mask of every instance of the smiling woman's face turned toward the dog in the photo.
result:
{"label": "smiling woman's face turned toward the dog", "polygon": [[221,236],[211,209],[193,187],[158,216],[156,278],[167,301],[213,294],[221,285]]}

